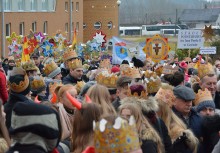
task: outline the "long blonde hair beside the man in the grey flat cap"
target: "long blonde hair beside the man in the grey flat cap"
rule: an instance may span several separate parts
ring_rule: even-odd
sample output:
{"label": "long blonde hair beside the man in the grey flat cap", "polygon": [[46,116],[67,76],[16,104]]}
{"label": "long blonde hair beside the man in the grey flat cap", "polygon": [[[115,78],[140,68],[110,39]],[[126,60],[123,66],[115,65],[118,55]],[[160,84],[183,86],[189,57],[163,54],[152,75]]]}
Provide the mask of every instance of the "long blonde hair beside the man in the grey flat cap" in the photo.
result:
{"label": "long blonde hair beside the man in the grey flat cap", "polygon": [[197,152],[198,139],[195,137],[193,132],[187,129],[187,126],[183,121],[171,110],[167,103],[158,99],[159,113],[158,116],[164,121],[167,126],[168,133],[171,137],[172,142],[174,142],[179,136],[186,133],[188,147],[194,152]]}

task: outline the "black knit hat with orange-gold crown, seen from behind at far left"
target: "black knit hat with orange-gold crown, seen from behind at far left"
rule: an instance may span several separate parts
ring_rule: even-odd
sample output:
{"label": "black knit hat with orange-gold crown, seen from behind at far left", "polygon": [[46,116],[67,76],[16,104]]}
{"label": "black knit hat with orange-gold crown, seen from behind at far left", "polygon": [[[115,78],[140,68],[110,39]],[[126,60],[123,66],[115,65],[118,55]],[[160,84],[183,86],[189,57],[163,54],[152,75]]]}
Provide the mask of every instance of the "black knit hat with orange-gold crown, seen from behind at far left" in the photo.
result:
{"label": "black knit hat with orange-gold crown, seen from behind at far left", "polygon": [[29,78],[24,69],[14,67],[9,76],[11,92],[27,95],[30,92]]}

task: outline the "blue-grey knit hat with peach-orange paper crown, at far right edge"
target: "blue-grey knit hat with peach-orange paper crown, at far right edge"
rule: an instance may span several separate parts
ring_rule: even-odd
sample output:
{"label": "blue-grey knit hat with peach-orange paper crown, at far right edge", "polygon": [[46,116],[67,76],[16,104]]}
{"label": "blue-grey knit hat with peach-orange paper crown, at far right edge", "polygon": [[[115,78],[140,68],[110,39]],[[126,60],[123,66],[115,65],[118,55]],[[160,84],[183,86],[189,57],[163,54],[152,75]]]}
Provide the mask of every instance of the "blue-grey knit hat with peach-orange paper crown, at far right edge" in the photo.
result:
{"label": "blue-grey knit hat with peach-orange paper crown, at far right edge", "polygon": [[212,94],[208,89],[199,90],[196,94],[196,98],[194,101],[194,104],[196,106],[196,111],[200,112],[204,108],[210,107],[215,109],[215,103],[212,98]]}

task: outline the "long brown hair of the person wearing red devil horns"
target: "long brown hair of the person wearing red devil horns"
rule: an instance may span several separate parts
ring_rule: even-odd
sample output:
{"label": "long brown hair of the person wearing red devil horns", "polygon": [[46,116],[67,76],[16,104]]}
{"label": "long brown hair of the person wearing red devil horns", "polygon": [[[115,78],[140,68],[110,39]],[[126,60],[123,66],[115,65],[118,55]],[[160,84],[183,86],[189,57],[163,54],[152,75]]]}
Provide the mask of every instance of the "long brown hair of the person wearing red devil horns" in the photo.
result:
{"label": "long brown hair of the person wearing red devil horns", "polygon": [[98,122],[102,115],[101,107],[96,103],[83,103],[81,109],[75,110],[72,149],[81,153],[88,146],[94,146],[93,121]]}

